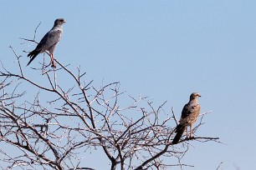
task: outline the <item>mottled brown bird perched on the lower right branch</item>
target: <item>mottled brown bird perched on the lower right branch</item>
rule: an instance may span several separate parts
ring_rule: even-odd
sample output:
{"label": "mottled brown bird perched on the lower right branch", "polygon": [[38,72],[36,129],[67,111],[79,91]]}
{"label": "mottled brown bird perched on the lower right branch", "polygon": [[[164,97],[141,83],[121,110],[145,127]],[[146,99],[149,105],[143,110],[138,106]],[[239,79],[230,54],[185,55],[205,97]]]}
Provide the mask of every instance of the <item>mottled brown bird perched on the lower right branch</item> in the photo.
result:
{"label": "mottled brown bird perched on the lower right branch", "polygon": [[185,106],[182,109],[182,116],[180,118],[179,124],[176,127],[176,136],[173,138],[172,143],[177,144],[182,138],[182,134],[186,130],[186,136],[187,135],[187,127],[190,128],[190,137],[192,138],[192,125],[197,121],[197,117],[200,113],[200,104],[198,102],[198,97],[201,97],[201,95],[198,92],[192,92],[192,94],[189,97],[189,102],[185,104]]}

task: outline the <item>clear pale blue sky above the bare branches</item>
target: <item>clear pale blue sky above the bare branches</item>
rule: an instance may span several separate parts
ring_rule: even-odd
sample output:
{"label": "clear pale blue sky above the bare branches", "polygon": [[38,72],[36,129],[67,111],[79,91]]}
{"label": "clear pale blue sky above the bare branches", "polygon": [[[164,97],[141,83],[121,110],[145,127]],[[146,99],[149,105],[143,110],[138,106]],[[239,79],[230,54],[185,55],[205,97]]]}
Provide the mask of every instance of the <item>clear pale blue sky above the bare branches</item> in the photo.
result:
{"label": "clear pale blue sky above the bare branches", "polygon": [[165,111],[174,107],[177,117],[191,92],[202,94],[202,112],[213,112],[197,134],[219,137],[226,145],[192,142],[182,161],[195,168],[185,170],[216,169],[221,162],[220,169],[253,169],[255,9],[255,0],[2,0],[0,58],[4,64],[15,61],[12,45],[26,65],[23,50],[35,45],[28,48],[18,37],[33,38],[41,22],[39,41],[56,18],[64,18],[55,57],[80,65],[95,84],[120,81],[128,94],[150,96],[155,106],[167,101]]}

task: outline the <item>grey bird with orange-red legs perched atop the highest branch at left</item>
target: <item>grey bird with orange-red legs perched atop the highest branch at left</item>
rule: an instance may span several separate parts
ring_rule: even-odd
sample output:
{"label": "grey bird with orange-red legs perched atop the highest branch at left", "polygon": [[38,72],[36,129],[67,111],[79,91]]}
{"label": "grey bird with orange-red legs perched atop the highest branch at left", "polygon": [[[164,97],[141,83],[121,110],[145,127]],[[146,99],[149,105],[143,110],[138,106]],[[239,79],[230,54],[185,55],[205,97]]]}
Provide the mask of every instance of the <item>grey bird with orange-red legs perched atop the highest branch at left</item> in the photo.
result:
{"label": "grey bird with orange-red legs perched atop the highest branch at left", "polygon": [[39,53],[49,52],[52,64],[51,66],[56,67],[54,63],[54,49],[61,39],[63,32],[62,24],[64,23],[64,18],[58,18],[55,20],[54,27],[44,35],[44,37],[38,43],[38,46],[32,52],[28,53],[28,57],[30,57],[28,65],[33,61],[35,57],[38,56]]}

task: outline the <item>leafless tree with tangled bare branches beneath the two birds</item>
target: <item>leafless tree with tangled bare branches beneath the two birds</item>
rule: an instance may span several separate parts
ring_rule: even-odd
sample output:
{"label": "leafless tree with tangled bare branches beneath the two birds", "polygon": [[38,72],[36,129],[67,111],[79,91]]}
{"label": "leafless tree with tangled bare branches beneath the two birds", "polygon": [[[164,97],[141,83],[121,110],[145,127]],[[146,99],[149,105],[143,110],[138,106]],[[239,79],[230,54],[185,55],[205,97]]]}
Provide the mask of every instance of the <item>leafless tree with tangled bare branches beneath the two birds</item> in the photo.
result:
{"label": "leafless tree with tangled bare branches beneath the two birds", "polygon": [[[44,63],[40,68],[23,67],[23,57],[13,53],[18,71],[3,63],[0,69],[3,169],[92,169],[86,168],[84,155],[94,154],[94,148],[102,151],[100,159],[108,158],[105,169],[182,168],[190,166],[182,158],[191,140],[218,143],[218,138],[196,136],[173,145],[177,119],[173,108],[165,112],[166,102],[154,107],[148,97],[122,92],[120,82],[96,87],[80,67],[71,72],[70,66],[57,60],[58,69]],[[42,81],[35,82],[24,69],[37,73]],[[37,93],[31,95],[31,89]],[[202,113],[194,131],[207,113]],[[177,164],[170,159],[177,159]]]}

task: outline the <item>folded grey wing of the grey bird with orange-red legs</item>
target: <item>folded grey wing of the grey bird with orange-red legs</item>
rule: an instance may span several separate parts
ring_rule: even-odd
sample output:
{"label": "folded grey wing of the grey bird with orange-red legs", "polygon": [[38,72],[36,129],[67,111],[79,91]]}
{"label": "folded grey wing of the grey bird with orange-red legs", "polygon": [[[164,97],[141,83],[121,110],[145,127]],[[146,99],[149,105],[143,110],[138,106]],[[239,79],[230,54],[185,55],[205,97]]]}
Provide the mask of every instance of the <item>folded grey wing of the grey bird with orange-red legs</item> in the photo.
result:
{"label": "folded grey wing of the grey bird with orange-red legs", "polygon": [[62,32],[59,29],[52,29],[51,31],[47,32],[42,38],[42,40],[38,43],[36,50],[49,50],[50,47],[53,47],[55,44],[59,42],[61,34]]}

